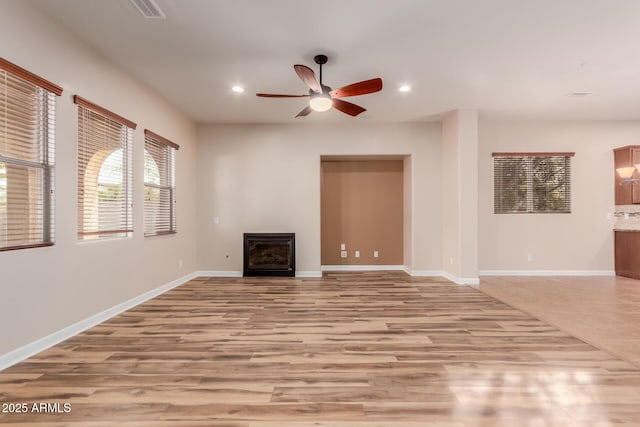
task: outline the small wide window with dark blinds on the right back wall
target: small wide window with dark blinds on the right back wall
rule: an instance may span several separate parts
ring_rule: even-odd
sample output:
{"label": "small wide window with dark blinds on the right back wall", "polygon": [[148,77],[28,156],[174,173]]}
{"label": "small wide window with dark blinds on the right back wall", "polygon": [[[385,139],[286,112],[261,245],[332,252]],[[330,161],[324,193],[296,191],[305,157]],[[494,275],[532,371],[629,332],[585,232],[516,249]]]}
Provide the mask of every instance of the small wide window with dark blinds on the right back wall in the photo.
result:
{"label": "small wide window with dark blinds on the right back wall", "polygon": [[494,213],[571,213],[574,153],[493,153]]}

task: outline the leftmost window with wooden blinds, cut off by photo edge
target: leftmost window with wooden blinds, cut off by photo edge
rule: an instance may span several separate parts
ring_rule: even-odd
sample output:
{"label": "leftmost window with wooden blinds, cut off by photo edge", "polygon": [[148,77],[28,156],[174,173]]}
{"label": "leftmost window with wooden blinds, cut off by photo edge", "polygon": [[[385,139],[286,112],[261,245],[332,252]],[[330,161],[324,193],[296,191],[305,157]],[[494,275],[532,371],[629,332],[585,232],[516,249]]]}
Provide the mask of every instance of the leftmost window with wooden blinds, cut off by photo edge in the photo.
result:
{"label": "leftmost window with wooden blinds, cut off by photo edge", "polygon": [[54,243],[56,95],[62,88],[0,58],[0,250]]}

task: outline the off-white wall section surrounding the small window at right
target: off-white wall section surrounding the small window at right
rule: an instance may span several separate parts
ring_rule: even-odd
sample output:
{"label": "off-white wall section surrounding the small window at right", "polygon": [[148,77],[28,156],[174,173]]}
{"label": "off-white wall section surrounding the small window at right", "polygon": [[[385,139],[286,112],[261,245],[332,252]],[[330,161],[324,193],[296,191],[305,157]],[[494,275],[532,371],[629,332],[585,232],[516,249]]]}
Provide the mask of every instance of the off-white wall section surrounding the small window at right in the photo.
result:
{"label": "off-white wall section surrounding the small window at right", "polygon": [[[479,125],[479,221],[482,271],[612,272],[613,148],[637,144],[632,121],[497,121]],[[492,152],[569,151],[571,214],[493,213]],[[527,255],[533,261],[527,260]]]}

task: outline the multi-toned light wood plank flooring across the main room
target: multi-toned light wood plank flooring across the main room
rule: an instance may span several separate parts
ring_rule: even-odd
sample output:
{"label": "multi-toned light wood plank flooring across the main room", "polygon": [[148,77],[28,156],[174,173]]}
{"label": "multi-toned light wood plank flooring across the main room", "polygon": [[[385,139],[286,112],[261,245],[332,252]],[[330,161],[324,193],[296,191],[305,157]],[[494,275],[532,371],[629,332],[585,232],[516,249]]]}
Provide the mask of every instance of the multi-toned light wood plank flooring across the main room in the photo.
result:
{"label": "multi-toned light wood plank flooring across the main room", "polygon": [[22,403],[0,425],[637,426],[640,370],[440,279],[202,278],[0,372]]}

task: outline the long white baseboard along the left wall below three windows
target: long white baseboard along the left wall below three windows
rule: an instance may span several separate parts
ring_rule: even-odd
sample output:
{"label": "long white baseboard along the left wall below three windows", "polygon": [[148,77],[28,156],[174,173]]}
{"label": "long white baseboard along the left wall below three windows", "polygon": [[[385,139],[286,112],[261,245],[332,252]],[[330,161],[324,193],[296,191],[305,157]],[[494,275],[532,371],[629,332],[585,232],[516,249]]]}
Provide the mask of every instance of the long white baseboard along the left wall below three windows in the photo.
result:
{"label": "long white baseboard along the left wall below three windows", "polygon": [[67,326],[57,332],[54,332],[46,337],[40,338],[29,344],[23,345],[9,353],[5,353],[0,355],[0,371],[8,368],[9,366],[15,365],[18,362],[22,362],[23,360],[40,353],[52,347],[56,344],[61,343],[62,341],[71,338],[74,335],[79,334],[80,332],[86,331],[89,328],[92,328],[106,320],[109,320],[113,316],[116,316],[123,311],[129,310],[130,308],[135,307],[136,305],[142,304],[145,301],[150,300],[151,298],[157,297],[160,294],[163,294],[177,286],[182,285],[183,283],[188,282],[189,280],[197,277],[196,272],[187,274],[186,276],[180,277],[179,279],[173,280],[165,285],[152,289],[144,294],[138,295],[137,297],[131,298],[128,301],[122,302],[118,305],[115,305],[111,308],[108,308],[98,314],[94,314],[84,320],[81,320],[77,323],[74,323],[71,326]]}

